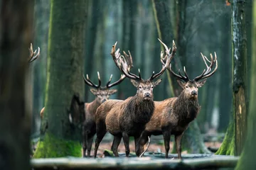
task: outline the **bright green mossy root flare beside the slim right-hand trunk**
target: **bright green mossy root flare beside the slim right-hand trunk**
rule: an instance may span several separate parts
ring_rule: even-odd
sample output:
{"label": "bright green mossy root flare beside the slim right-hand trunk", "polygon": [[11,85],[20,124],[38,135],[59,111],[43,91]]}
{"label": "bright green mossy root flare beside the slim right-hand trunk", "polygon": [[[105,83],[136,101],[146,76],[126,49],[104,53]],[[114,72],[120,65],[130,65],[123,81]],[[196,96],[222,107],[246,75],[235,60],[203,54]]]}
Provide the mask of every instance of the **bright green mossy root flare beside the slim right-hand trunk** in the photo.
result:
{"label": "bright green mossy root flare beside the slim right-hand trunk", "polygon": [[235,155],[235,132],[234,132],[234,122],[230,122],[228,125],[228,130],[225,134],[225,138],[220,148],[215,154],[222,155]]}

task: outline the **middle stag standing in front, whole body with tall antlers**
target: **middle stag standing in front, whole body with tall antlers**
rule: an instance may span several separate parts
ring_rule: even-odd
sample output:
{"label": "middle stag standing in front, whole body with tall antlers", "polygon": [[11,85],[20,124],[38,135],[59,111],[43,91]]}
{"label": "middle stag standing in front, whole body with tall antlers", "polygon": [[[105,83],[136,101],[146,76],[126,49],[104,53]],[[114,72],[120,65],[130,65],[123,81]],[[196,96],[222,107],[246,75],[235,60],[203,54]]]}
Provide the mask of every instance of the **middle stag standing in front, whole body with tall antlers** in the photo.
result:
{"label": "middle stag standing in front, whole body with tall antlers", "polygon": [[[161,40],[160,40],[161,42]],[[173,49],[170,54],[168,47],[161,42],[166,49],[166,62],[163,63],[161,71],[157,74],[151,75],[149,79],[142,79],[139,72],[139,76],[129,72],[127,61],[124,56],[127,54],[124,52],[124,56],[120,55],[119,49],[115,51],[117,42],[112,46],[111,55],[117,67],[122,73],[129,79],[132,84],[137,88],[137,94],[129,97],[126,100],[108,100],[97,108],[96,111],[96,133],[97,138],[95,140],[95,154],[97,156],[97,149],[105,136],[106,132],[110,132],[114,135],[114,141],[112,143],[112,152],[115,157],[119,157],[117,148],[123,137],[126,156],[129,156],[129,137],[134,137],[135,147],[139,147],[139,137],[143,132],[146,123],[149,122],[151,115],[154,112],[153,101],[153,89],[155,86],[161,83],[161,79],[153,81],[159,78],[164,73],[165,69],[169,67],[171,59],[176,52],[175,43],[173,43]],[[162,53],[162,52],[161,52]],[[129,55],[130,52],[129,52]]]}

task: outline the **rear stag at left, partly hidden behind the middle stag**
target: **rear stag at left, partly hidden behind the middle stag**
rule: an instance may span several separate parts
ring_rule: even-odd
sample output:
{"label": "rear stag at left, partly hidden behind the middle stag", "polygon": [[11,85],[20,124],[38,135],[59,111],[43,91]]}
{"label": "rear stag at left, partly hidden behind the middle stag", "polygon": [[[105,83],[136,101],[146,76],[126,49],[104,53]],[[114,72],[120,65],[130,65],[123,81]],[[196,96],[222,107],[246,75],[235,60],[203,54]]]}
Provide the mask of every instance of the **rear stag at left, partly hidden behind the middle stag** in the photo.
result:
{"label": "rear stag at left, partly hidden behind the middle stag", "polygon": [[[132,58],[129,59],[132,62]],[[83,125],[83,157],[85,157],[86,150],[87,150],[87,157],[90,157],[90,151],[92,149],[92,140],[93,136],[96,133],[96,124],[95,124],[95,113],[97,108],[101,105],[101,103],[107,101],[107,99],[110,97],[110,95],[117,92],[117,89],[110,89],[112,86],[116,86],[117,84],[120,84],[125,76],[121,75],[120,79],[115,81],[114,83],[110,84],[110,81],[112,80],[112,75],[110,76],[110,81],[107,82],[106,86],[100,86],[101,80],[100,80],[100,74],[98,74],[98,81],[99,84],[93,84],[92,81],[89,79],[88,75],[85,80],[85,84],[88,86],[91,86],[95,89],[90,89],[92,94],[96,96],[95,100],[90,103],[85,103],[85,123]]]}

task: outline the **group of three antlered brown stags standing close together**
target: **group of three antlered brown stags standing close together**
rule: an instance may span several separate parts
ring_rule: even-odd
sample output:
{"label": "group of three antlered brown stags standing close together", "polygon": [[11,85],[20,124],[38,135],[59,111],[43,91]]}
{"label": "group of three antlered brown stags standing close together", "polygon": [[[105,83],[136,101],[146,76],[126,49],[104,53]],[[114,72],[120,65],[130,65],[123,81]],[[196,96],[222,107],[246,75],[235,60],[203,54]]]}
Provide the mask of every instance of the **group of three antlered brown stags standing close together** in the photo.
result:
{"label": "group of three antlered brown stags standing close together", "polygon": [[[159,40],[161,42],[161,40]],[[117,148],[123,138],[126,156],[129,156],[129,137],[134,137],[135,152],[137,156],[144,154],[144,145],[148,142],[151,135],[163,135],[164,146],[166,149],[165,157],[168,158],[169,142],[171,135],[175,136],[176,150],[178,159],[181,159],[181,138],[184,131],[188,128],[188,124],[196,118],[200,111],[198,103],[198,88],[205,84],[206,79],[212,76],[218,68],[217,56],[213,59],[210,54],[210,60],[201,53],[206,69],[202,74],[194,79],[189,79],[185,67],[184,75],[178,70],[176,74],[171,69],[171,60],[176,55],[176,45],[173,41],[172,51],[164,42],[166,55],[161,52],[160,62],[162,69],[155,74],[152,73],[149,79],[142,79],[140,74],[130,72],[133,67],[132,55],[128,51],[123,52],[124,55],[116,50],[117,42],[112,45],[111,55],[117,68],[122,72],[120,79],[106,86],[101,86],[100,74],[98,74],[99,84],[93,84],[88,75],[84,81],[85,84],[95,89],[90,89],[92,94],[96,96],[91,103],[85,103],[85,122],[83,124],[83,156],[90,157],[92,148],[92,140],[96,134],[94,157],[97,156],[97,149],[105,136],[106,132],[110,132],[114,136],[111,150],[115,157],[119,157]],[[33,52],[33,51],[32,51]],[[210,64],[208,64],[209,62]],[[215,69],[213,67],[215,66]],[[178,97],[167,98],[164,101],[154,101],[153,89],[161,83],[161,79],[157,79],[168,69],[176,78],[178,84],[183,91]],[[212,71],[213,69],[213,71]],[[110,87],[120,84],[125,77],[129,78],[132,84],[137,88],[137,94],[125,100],[109,99],[110,95],[117,92]],[[154,81],[157,79],[156,81]],[[42,109],[43,111],[43,109]],[[42,113],[41,111],[41,113]],[[41,114],[42,116],[42,114]],[[86,155],[87,151],[87,155]]]}

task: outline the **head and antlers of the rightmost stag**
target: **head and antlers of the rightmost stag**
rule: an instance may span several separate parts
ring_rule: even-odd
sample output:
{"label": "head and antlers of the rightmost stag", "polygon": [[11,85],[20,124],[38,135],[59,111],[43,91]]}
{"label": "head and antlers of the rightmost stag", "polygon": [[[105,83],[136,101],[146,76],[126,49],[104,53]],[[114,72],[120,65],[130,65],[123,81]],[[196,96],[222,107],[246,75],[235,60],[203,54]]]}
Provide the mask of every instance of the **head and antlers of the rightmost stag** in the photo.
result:
{"label": "head and antlers of the rightmost stag", "polygon": [[[174,73],[174,71],[171,69],[171,64],[169,67],[169,71],[176,77],[176,80],[178,81],[178,84],[183,88],[183,93],[186,96],[186,98],[198,98],[198,88],[203,86],[203,84],[206,83],[206,79],[210,76],[212,76],[217,68],[218,68],[218,61],[217,61],[217,55],[215,54],[215,58],[213,60],[213,55],[210,54],[210,61],[207,59],[206,56],[204,56],[201,53],[201,56],[203,57],[203,61],[206,64],[206,69],[203,70],[203,73],[194,78],[193,80],[188,78],[188,74],[186,73],[186,68],[183,67],[184,74],[183,76],[180,72],[180,69],[178,69],[178,74]],[[207,62],[210,62],[210,66],[208,66]],[[213,72],[210,72],[213,66],[215,65],[215,69]]]}

